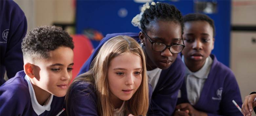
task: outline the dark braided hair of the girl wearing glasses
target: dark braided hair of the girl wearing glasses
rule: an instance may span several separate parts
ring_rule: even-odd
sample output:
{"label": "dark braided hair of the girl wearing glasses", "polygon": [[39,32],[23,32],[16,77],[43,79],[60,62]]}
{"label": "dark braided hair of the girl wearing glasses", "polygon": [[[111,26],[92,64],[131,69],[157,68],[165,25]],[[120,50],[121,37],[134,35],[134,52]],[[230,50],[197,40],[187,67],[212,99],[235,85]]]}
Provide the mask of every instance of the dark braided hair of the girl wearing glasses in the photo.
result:
{"label": "dark braided hair of the girl wearing glasses", "polygon": [[180,24],[183,34],[183,18],[181,12],[173,5],[158,2],[146,9],[140,20],[142,31],[147,31],[147,26],[157,20],[174,21]]}

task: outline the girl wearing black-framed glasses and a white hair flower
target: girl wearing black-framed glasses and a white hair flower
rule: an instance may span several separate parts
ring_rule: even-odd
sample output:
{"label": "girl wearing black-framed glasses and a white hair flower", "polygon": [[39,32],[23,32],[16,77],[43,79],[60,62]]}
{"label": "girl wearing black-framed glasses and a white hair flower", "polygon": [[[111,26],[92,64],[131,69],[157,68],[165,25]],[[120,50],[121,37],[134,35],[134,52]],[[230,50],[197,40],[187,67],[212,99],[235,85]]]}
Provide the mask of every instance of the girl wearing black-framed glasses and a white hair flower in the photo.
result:
{"label": "girl wearing black-framed glasses and a white hair flower", "polygon": [[108,34],[83,65],[79,74],[90,69],[92,60],[101,46],[117,35],[135,38],[146,54],[149,84],[153,88],[148,115],[171,115],[175,109],[178,90],[185,76],[185,66],[178,55],[183,48],[183,18],[180,11],[167,3],[146,3],[141,13],[132,20],[138,33]]}

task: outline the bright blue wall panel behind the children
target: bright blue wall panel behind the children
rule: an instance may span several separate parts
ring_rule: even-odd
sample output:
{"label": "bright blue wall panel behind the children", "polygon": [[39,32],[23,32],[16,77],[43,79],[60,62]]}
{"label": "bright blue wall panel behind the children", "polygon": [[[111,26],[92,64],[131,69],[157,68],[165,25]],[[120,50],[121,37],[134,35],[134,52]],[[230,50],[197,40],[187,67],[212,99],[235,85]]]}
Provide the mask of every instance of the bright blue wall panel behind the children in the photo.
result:
{"label": "bright blue wall panel behind the children", "polygon": [[[195,12],[194,6],[197,0],[172,0],[159,1],[176,6],[182,15]],[[154,1],[158,2],[158,1]],[[215,45],[213,54],[219,61],[229,66],[230,46],[230,10],[231,1],[214,0],[217,3],[217,12],[207,14],[215,22]],[[134,16],[140,13],[140,7],[144,3],[136,3],[133,0],[118,1],[76,1],[76,33],[82,34],[84,29],[96,29],[103,36],[108,33],[136,32],[140,30],[131,24]],[[119,15],[121,13],[121,16]],[[124,14],[124,16],[122,15]],[[92,41],[94,47],[99,41]]]}

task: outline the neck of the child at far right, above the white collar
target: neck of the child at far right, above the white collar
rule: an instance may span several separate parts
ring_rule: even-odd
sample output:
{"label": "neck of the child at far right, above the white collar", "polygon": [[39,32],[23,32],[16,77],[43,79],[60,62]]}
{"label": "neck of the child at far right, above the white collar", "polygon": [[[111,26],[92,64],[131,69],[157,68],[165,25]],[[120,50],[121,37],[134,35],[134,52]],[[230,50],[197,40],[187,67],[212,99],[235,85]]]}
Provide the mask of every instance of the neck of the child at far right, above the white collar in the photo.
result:
{"label": "neck of the child at far right, above the white collar", "polygon": [[191,72],[197,72],[198,70],[200,70],[204,64],[205,64],[205,60],[204,61],[188,61],[186,59],[184,59],[184,62],[187,66],[187,68],[191,71]]}

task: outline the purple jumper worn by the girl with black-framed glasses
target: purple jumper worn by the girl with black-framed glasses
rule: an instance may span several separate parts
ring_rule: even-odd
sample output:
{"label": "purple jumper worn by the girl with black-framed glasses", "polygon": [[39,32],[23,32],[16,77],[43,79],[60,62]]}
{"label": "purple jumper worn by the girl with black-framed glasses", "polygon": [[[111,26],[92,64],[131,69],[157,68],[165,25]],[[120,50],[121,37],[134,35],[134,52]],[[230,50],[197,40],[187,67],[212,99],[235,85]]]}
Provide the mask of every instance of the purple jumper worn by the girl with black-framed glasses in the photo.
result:
{"label": "purple jumper worn by the girl with black-framed glasses", "polygon": [[[134,38],[136,41],[140,43],[138,33],[114,33],[107,34],[105,38],[103,38],[95,48],[94,52],[91,54],[89,59],[84,63],[82,68],[80,69],[79,74],[85,73],[89,71],[90,64],[92,60],[97,55],[97,52],[101,48],[101,46],[108,41],[110,38],[118,36],[118,35],[126,35]],[[173,64],[166,70],[162,70],[155,90],[153,91],[151,104],[148,108],[148,115],[154,116],[170,116],[174,112],[176,103],[178,90],[180,89],[183,78],[185,76],[185,65],[181,60],[180,55],[176,58]]]}

